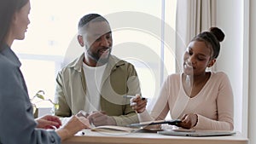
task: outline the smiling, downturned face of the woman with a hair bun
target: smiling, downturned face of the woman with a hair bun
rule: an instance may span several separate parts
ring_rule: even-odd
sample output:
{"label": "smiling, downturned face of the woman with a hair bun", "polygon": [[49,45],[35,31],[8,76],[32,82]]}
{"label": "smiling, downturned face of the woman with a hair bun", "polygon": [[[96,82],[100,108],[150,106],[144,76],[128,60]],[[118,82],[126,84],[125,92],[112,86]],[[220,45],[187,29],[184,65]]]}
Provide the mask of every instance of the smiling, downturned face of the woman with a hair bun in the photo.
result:
{"label": "smiling, downturned face of the woman with a hair bun", "polygon": [[183,72],[187,75],[205,74],[207,67],[214,64],[211,60],[211,49],[205,42],[192,41],[183,55]]}

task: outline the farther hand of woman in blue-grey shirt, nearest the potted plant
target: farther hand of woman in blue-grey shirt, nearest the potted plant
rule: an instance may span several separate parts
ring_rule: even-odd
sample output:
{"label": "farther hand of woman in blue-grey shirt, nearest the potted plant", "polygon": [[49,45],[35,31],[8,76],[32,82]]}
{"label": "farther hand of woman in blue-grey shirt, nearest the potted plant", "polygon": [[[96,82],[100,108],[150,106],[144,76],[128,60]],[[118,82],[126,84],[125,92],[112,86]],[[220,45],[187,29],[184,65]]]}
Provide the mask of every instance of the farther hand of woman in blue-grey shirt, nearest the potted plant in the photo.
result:
{"label": "farther hand of woman in blue-grey shirt, nearest the potted plant", "polygon": [[38,122],[37,128],[41,129],[58,129],[61,126],[61,120],[56,116],[45,115],[35,120]]}

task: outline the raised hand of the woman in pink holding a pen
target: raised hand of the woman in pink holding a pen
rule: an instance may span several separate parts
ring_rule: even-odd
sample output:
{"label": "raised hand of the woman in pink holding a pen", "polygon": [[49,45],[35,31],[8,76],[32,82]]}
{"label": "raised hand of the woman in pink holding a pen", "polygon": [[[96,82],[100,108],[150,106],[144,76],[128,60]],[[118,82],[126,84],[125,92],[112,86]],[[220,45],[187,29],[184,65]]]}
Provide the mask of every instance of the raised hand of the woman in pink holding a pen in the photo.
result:
{"label": "raised hand of the woman in pink holding a pen", "polygon": [[136,95],[134,98],[131,98],[131,107],[137,113],[144,112],[147,106],[147,99],[142,98],[140,95]]}

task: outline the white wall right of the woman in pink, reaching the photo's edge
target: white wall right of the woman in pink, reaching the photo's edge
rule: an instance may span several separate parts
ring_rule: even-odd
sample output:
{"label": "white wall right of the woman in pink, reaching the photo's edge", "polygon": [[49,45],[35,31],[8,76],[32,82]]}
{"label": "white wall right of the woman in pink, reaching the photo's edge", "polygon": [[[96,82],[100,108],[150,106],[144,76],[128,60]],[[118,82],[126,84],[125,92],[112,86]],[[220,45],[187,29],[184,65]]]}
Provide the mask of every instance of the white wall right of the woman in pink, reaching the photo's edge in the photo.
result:
{"label": "white wall right of the woman in pink, reaching the photo's edge", "polygon": [[[236,130],[256,143],[256,1],[217,0],[217,26],[227,37],[218,70],[228,72],[235,92]],[[237,118],[237,119],[236,119]]]}

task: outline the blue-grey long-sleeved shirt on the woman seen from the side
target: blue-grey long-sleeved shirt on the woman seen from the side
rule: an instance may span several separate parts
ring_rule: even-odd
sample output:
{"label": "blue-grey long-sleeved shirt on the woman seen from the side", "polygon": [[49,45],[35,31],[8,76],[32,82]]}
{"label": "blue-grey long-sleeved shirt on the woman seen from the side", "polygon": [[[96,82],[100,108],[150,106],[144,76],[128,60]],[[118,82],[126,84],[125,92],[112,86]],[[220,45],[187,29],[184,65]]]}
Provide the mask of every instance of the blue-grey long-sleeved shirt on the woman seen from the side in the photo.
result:
{"label": "blue-grey long-sleeved shirt on the woman seen from the side", "polygon": [[3,45],[0,51],[0,143],[61,143],[53,130],[37,129],[20,60]]}

